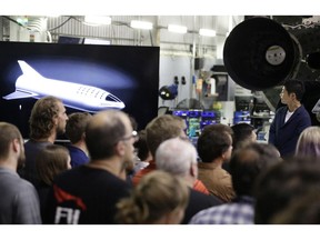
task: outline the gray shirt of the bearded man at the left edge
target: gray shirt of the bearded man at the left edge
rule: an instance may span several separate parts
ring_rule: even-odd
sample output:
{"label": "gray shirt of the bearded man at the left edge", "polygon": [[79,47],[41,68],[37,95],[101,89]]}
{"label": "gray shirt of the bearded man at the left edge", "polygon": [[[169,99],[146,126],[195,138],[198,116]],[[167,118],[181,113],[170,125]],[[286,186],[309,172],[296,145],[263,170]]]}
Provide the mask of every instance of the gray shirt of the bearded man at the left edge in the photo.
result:
{"label": "gray shirt of the bearded man at the left edge", "polygon": [[17,172],[0,168],[0,196],[1,224],[41,224],[38,193]]}

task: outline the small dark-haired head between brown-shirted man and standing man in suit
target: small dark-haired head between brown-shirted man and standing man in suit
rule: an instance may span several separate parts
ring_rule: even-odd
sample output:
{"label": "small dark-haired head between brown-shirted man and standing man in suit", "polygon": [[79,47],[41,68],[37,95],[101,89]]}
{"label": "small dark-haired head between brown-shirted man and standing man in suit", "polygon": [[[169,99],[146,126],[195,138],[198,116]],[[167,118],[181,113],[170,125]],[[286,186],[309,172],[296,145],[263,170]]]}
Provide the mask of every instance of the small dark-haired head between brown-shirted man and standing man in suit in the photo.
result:
{"label": "small dark-haired head between brown-shirted man and standing man in suit", "polygon": [[254,142],[257,140],[254,128],[251,124],[241,122],[232,126],[231,129],[233,131],[233,138],[232,138],[233,150],[241,148],[250,142]]}

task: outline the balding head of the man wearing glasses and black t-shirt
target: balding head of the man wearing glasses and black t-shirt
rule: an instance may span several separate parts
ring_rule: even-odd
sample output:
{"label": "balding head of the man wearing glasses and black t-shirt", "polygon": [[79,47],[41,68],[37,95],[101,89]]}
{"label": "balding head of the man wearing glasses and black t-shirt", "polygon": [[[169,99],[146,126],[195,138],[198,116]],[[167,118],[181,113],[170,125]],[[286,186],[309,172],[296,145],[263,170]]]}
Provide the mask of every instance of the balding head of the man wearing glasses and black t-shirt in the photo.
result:
{"label": "balding head of the man wearing glasses and black t-shirt", "polygon": [[113,157],[132,161],[136,138],[128,114],[114,109],[96,113],[86,129],[86,144],[92,161]]}

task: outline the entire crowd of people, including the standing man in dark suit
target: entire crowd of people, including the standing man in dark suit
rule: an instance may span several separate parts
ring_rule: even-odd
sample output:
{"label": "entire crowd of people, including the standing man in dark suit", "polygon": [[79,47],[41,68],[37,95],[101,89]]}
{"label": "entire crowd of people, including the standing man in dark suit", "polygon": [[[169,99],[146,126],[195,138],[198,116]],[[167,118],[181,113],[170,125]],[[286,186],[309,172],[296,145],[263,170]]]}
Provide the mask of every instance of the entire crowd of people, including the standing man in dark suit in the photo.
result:
{"label": "entire crowd of people, including the standing man in dark suit", "polygon": [[[0,223],[320,223],[320,127],[302,94],[301,82],[284,84],[269,143],[248,123],[217,123],[197,146],[176,116],[138,131],[123,111],[67,116],[60,99],[43,97],[28,141],[0,122]],[[67,146],[56,143],[61,133]]]}

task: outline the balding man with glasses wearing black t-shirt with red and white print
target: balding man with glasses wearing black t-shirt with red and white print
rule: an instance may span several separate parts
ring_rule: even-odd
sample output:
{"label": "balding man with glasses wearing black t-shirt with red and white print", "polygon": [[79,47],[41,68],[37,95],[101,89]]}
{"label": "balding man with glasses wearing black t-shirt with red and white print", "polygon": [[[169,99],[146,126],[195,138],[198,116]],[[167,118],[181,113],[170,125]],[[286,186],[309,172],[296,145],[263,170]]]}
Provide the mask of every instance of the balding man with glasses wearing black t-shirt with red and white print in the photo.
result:
{"label": "balding man with glasses wearing black t-shirt with red and white print", "polygon": [[90,162],[54,179],[44,223],[114,223],[118,200],[130,194],[131,187],[120,174],[134,158],[136,140],[137,132],[124,112],[96,113],[86,129]]}

